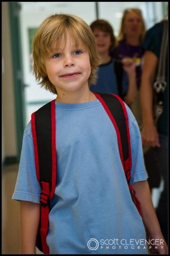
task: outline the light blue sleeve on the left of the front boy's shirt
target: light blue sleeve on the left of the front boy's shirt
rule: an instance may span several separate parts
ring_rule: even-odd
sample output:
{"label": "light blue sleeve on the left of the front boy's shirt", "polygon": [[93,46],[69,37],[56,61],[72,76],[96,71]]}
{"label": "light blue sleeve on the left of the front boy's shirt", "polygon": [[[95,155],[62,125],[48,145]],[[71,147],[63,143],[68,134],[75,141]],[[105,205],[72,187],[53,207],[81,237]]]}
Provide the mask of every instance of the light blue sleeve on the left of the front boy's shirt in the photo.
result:
{"label": "light blue sleeve on the left of the front boy's shirt", "polygon": [[17,175],[17,182],[12,199],[40,203],[40,193],[40,184],[36,178],[31,122],[29,122],[24,131],[19,173]]}

